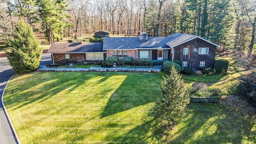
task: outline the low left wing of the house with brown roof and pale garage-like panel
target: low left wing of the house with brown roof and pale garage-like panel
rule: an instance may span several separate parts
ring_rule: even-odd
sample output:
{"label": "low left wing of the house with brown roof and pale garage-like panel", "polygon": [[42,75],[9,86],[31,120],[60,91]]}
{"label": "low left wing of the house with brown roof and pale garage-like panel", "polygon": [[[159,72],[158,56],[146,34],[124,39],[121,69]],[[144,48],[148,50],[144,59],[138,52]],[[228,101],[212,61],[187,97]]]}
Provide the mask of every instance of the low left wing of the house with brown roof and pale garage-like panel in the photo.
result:
{"label": "low left wing of the house with brown roof and pale garage-like panel", "polygon": [[101,42],[53,43],[48,52],[52,55],[52,64],[60,61],[101,62],[106,58]]}

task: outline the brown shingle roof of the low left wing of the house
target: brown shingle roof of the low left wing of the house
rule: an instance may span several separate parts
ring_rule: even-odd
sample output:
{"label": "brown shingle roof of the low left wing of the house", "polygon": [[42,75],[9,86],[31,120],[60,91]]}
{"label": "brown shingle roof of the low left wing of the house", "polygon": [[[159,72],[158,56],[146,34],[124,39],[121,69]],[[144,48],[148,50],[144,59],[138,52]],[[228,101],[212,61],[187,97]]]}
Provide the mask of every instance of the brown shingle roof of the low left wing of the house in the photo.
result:
{"label": "brown shingle roof of the low left wing of the house", "polygon": [[47,53],[87,53],[106,52],[102,50],[102,42],[76,43],[53,43]]}

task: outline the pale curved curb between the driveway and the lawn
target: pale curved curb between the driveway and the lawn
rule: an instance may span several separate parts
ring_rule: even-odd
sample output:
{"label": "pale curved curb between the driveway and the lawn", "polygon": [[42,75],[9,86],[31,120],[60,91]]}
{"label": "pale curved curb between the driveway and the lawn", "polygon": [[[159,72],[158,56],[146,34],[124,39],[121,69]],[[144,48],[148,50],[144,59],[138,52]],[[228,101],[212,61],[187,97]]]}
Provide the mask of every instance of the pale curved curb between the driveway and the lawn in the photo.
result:
{"label": "pale curved curb between the driveway and the lawn", "polygon": [[[15,74],[16,74],[16,73],[15,73]],[[10,79],[11,79],[15,74],[13,74],[13,75],[9,78],[9,80],[6,82],[6,85],[5,85],[5,87],[4,87],[4,91],[5,91],[6,87],[7,87],[8,82],[10,81]],[[18,135],[17,135],[17,133],[16,133],[16,131],[15,131],[15,129],[14,129],[14,126],[12,125],[12,121],[11,121],[11,119],[10,119],[10,116],[9,116],[7,110],[6,110],[6,107],[4,106],[4,91],[3,91],[3,94],[2,94],[2,98],[1,98],[1,102],[2,102],[2,105],[3,105],[3,108],[4,108],[4,113],[5,113],[6,117],[7,117],[7,120],[8,120],[8,123],[9,123],[9,125],[10,125],[10,128],[12,129],[12,133],[14,134],[14,139],[15,139],[15,141],[16,141],[18,144],[21,144],[21,143],[20,143],[20,139],[19,139],[19,137],[18,137]]]}

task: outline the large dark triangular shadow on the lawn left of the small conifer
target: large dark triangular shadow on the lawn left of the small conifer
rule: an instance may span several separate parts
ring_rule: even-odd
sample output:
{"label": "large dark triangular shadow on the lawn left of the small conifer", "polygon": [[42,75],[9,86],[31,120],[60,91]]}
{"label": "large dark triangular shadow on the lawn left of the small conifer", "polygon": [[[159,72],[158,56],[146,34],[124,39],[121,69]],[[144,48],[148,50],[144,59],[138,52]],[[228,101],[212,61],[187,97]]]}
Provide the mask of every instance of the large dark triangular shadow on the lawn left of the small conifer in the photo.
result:
{"label": "large dark triangular shadow on the lawn left of the small conifer", "polygon": [[147,73],[127,74],[126,79],[109,98],[101,118],[154,102],[160,95],[160,80],[160,76]]}

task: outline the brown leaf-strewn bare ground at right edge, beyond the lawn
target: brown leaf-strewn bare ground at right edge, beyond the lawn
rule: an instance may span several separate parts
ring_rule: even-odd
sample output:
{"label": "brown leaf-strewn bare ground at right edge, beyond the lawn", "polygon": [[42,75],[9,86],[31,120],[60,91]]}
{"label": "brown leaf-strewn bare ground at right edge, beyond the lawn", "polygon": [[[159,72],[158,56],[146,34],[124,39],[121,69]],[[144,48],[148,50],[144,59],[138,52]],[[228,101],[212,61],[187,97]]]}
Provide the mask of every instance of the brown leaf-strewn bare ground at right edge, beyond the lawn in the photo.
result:
{"label": "brown leaf-strewn bare ground at right edge, beyond the lawn", "polygon": [[252,116],[254,121],[256,121],[256,105],[253,104],[252,100],[234,95],[222,96],[220,104],[223,104],[224,106],[227,106],[228,108],[241,114]]}

